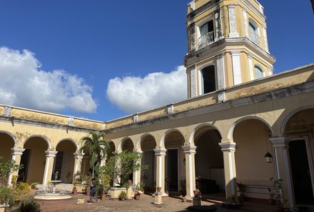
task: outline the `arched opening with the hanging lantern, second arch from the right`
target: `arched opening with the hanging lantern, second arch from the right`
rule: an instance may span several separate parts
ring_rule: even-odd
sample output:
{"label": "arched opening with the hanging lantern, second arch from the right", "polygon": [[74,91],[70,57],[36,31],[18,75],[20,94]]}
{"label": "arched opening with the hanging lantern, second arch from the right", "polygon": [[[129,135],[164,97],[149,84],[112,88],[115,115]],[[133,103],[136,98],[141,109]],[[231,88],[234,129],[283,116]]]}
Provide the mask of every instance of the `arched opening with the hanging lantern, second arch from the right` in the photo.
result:
{"label": "arched opening with the hanging lantern, second arch from the right", "polygon": [[[253,186],[258,186],[256,180],[268,183],[270,176],[275,176],[274,164],[266,163],[264,158],[266,153],[274,156],[269,139],[273,134],[270,124],[260,117],[245,116],[233,123],[231,128],[230,140],[236,143],[234,156],[237,181]],[[263,189],[267,187],[262,185],[256,192],[260,193]],[[256,193],[249,195],[256,196]]]}

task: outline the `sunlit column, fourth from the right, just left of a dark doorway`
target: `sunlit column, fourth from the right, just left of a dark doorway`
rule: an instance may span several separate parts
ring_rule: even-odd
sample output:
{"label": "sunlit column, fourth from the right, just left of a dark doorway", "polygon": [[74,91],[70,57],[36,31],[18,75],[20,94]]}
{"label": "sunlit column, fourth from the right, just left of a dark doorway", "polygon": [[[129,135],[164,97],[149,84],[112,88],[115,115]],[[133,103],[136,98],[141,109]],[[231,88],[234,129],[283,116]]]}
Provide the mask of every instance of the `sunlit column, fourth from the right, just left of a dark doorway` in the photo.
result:
{"label": "sunlit column, fourth from the right, just left of a dark doorway", "polygon": [[162,196],[168,196],[165,193],[165,156],[166,148],[154,148],[156,156],[156,187],[161,187]]}

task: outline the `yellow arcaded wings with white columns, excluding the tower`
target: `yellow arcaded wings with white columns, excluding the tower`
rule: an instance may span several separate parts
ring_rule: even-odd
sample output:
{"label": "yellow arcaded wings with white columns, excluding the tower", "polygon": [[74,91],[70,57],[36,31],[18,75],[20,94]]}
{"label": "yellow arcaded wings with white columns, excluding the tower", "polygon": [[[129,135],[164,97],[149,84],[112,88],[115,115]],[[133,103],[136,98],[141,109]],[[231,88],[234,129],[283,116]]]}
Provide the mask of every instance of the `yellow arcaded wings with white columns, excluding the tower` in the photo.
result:
{"label": "yellow arcaded wings with white columns, excluding the tower", "polygon": [[[24,165],[21,181],[48,183],[58,171],[59,180],[71,183],[77,171],[87,174],[89,169],[88,154],[78,152],[80,138],[103,131],[113,152],[142,153],[148,170],[133,173],[133,183],[143,181],[153,191],[161,187],[163,196],[181,191],[185,181],[187,198],[196,186],[203,194],[224,192],[228,197],[242,182],[245,196],[267,199],[275,177],[283,179],[289,207],[313,203],[314,85],[305,82],[293,95],[287,90],[270,91],[267,99],[264,93],[255,94],[131,124],[117,119],[105,128],[103,122],[79,118],[71,126],[32,121],[19,114],[57,115],[24,108],[12,107],[7,116],[9,107],[1,106],[0,156]],[[265,163],[267,152],[273,163]]]}

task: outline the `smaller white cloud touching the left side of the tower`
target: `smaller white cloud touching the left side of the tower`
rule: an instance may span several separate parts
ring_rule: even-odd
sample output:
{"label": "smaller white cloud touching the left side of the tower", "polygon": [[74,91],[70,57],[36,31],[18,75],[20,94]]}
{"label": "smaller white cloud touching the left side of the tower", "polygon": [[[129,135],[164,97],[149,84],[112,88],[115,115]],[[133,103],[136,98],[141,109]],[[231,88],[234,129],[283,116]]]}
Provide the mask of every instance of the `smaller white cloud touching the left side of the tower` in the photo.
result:
{"label": "smaller white cloud touching the left side of the tower", "polygon": [[186,84],[186,69],[178,66],[169,74],[156,72],[143,78],[125,76],[111,79],[107,96],[121,110],[135,113],[186,99]]}

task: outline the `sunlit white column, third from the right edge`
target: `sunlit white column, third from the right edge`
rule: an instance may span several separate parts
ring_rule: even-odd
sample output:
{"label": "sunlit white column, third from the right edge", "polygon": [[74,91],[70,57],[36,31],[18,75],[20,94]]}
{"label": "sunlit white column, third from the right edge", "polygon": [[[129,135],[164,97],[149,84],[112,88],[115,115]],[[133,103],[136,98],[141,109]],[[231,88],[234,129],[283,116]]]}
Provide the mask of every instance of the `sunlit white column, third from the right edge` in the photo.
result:
{"label": "sunlit white column, third from the right edge", "polygon": [[193,191],[196,190],[195,179],[195,153],[196,146],[182,146],[186,154],[186,198],[193,198]]}

